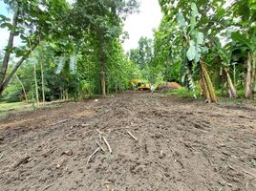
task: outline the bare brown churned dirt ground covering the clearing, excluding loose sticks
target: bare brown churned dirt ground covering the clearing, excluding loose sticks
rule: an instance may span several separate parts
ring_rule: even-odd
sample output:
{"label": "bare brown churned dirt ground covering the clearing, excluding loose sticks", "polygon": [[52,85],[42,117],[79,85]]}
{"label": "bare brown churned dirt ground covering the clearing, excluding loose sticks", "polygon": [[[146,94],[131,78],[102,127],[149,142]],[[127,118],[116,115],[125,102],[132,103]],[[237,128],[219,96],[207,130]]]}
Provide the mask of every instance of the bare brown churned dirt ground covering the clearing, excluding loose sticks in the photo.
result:
{"label": "bare brown churned dirt ground covering the clearing, excluding loose sticks", "polygon": [[[87,164],[96,129],[113,154],[102,143]],[[254,191],[256,109],[123,93],[11,115],[0,190]]]}

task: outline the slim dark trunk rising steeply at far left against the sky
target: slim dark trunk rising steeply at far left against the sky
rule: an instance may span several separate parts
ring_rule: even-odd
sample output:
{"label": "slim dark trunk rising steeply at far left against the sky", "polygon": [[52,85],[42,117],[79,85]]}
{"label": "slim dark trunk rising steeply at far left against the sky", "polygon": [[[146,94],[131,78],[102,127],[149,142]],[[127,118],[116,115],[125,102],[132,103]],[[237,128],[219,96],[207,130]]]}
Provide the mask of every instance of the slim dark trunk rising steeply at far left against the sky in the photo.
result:
{"label": "slim dark trunk rising steeply at far left against the sky", "polygon": [[16,26],[17,26],[18,14],[19,14],[19,11],[18,11],[18,9],[16,9],[16,11],[13,14],[13,18],[12,18],[11,32],[10,32],[9,39],[8,39],[8,47],[6,49],[6,53],[5,53],[4,59],[3,59],[2,68],[0,71],[0,91],[1,91],[0,96],[1,96],[1,93],[4,91],[3,82],[4,82],[6,74],[7,74],[11,51],[13,48],[13,39],[14,39],[14,34],[15,34]]}

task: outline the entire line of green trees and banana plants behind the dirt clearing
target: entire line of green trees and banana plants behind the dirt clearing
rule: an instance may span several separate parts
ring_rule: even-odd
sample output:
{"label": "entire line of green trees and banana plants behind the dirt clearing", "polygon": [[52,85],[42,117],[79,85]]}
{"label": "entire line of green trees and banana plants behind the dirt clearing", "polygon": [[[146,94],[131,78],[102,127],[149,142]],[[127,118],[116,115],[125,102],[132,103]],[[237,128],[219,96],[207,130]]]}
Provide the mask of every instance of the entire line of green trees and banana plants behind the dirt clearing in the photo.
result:
{"label": "entire line of green trees and banana plants behind the dirt clearing", "polygon": [[[129,53],[121,46],[123,23],[139,11],[136,0],[4,2],[13,17],[0,15],[0,26],[10,31],[0,54],[1,96],[36,102],[105,96],[129,89],[133,78],[176,79],[208,102],[217,101],[216,91],[231,98],[256,92],[254,0],[159,0],[154,38],[141,37]],[[14,47],[17,36],[22,44]]]}

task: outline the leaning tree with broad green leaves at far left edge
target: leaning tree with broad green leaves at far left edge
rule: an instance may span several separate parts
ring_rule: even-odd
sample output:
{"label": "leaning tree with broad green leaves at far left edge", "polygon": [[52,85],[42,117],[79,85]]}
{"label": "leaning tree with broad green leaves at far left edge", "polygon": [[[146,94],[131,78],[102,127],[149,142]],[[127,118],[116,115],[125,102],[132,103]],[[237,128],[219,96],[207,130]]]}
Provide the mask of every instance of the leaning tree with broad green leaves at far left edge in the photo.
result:
{"label": "leaning tree with broad green leaves at far left edge", "polygon": [[[13,11],[11,19],[0,15],[1,27],[8,28],[10,36],[8,46],[5,50],[4,59],[0,69],[0,96],[9,84],[11,77],[30,53],[38,45],[38,36],[42,39],[51,37],[51,34],[59,32],[59,24],[63,20],[68,10],[65,0],[5,0]],[[60,14],[62,12],[62,14]],[[24,46],[13,47],[14,36],[19,35],[23,40]],[[10,74],[7,74],[11,53],[20,57]]]}

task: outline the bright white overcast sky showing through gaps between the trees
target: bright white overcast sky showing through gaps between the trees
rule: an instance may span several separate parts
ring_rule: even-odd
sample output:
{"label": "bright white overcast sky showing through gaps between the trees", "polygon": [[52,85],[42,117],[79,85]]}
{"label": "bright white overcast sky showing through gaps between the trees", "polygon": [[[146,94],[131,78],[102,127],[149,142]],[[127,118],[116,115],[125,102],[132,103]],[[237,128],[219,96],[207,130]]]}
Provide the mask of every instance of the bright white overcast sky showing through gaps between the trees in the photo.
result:
{"label": "bright white overcast sky showing through gaps between the trees", "polygon": [[[125,51],[138,47],[138,41],[141,36],[153,37],[153,29],[158,29],[160,25],[161,12],[158,0],[139,0],[139,13],[129,15],[125,21],[124,31],[129,33],[129,39],[123,43]],[[10,17],[3,1],[0,1],[0,14]],[[0,29],[0,50],[7,45],[9,32],[6,29]],[[19,40],[16,37],[14,45]]]}

